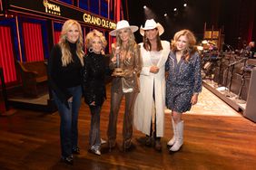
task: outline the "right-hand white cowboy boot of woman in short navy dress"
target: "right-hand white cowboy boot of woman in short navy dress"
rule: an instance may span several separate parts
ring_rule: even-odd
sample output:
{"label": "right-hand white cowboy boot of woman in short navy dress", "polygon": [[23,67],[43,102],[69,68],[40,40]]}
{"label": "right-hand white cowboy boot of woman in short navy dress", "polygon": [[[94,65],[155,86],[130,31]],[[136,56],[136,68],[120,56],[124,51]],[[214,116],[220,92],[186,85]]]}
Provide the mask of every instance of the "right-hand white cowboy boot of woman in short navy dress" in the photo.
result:
{"label": "right-hand white cowboy boot of woman in short navy dress", "polygon": [[183,120],[177,123],[176,125],[176,141],[174,145],[170,148],[171,152],[176,152],[178,151],[182,144],[183,144]]}

